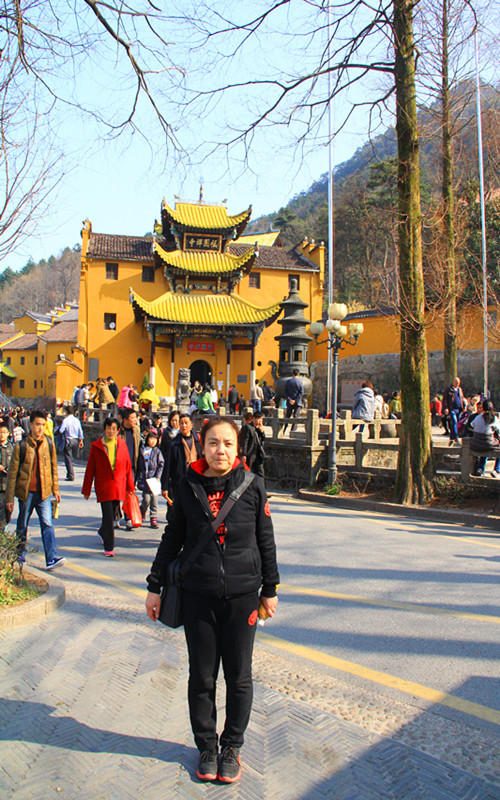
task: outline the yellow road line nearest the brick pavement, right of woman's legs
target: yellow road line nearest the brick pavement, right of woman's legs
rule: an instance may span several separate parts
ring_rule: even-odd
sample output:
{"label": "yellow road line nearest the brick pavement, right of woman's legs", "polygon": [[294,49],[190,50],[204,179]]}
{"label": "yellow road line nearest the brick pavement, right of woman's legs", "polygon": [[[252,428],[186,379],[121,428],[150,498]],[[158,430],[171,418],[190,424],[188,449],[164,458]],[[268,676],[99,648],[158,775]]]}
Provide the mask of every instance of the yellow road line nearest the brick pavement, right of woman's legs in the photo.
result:
{"label": "yellow road line nearest the brick pavement, right of woman's legs", "polygon": [[455,711],[461,711],[472,717],[477,717],[487,722],[493,722],[495,725],[500,725],[500,711],[494,708],[483,706],[480,703],[473,703],[470,700],[463,700],[461,697],[456,697],[447,692],[430,689],[428,686],[423,686],[421,683],[407,681],[404,680],[404,678],[396,678],[394,675],[370,669],[369,667],[363,667],[361,664],[354,664],[352,661],[345,661],[343,658],[335,658],[335,656],[327,655],[319,650],[313,650],[311,647],[305,647],[301,644],[287,642],[285,639],[279,639],[277,636],[272,636],[269,633],[262,633],[259,631],[258,638],[260,641],[264,642],[264,644],[268,644],[278,650],[284,650],[287,653],[292,653],[292,655],[306,658],[308,661],[314,661],[316,664],[333,667],[333,669],[347,672],[349,675],[356,675],[360,678],[372,681],[373,683],[378,683],[391,689],[397,689],[405,694],[412,694],[423,700],[429,700],[431,703],[439,703],[442,706],[453,708]]}

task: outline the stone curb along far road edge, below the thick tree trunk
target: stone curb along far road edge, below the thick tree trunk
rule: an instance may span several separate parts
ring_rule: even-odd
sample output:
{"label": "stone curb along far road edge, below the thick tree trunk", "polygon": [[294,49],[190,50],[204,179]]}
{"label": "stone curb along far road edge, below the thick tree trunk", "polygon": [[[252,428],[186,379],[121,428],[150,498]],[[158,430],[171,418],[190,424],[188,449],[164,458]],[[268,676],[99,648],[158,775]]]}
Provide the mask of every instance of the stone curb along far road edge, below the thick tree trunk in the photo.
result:
{"label": "stone curb along far road edge, below the thick tree trunk", "polygon": [[490,528],[494,531],[500,531],[500,517],[486,517],[481,514],[474,514],[472,511],[444,511],[443,509],[426,508],[425,506],[401,506],[397,503],[357,500],[351,497],[328,495],[323,492],[311,492],[307,489],[299,489],[298,495],[302,500],[322,503],[327,506],[338,506],[338,508],[347,508],[352,511],[376,511],[380,514],[395,514],[401,517],[433,520],[434,522],[452,522],[453,524],[462,524],[468,527]]}

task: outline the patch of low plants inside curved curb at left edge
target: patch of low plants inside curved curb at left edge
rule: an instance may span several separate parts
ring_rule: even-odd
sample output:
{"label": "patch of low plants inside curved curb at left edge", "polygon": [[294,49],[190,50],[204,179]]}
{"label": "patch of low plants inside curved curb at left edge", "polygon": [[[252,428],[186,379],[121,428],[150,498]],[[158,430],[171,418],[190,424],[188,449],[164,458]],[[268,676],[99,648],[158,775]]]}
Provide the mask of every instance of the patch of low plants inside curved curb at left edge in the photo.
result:
{"label": "patch of low plants inside curved curb at left edge", "polygon": [[34,575],[25,575],[17,561],[15,533],[0,530],[0,608],[25,603],[47,591],[48,584]]}

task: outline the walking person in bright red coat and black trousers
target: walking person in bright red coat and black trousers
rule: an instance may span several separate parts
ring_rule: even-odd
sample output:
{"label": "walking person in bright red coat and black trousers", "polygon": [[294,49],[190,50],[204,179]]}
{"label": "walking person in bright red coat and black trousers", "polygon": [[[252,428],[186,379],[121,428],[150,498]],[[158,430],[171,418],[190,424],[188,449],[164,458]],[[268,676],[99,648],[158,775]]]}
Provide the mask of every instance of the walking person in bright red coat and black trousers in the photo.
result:
{"label": "walking person in bright red coat and black trousers", "polygon": [[94,482],[97,502],[101,504],[102,523],[99,536],[104,544],[104,555],[114,556],[115,518],[125,493],[134,491],[134,478],[128,447],[118,438],[119,424],[114,417],[104,422],[104,435],[90,446],[89,460],[83,479],[82,494],[90,497]]}

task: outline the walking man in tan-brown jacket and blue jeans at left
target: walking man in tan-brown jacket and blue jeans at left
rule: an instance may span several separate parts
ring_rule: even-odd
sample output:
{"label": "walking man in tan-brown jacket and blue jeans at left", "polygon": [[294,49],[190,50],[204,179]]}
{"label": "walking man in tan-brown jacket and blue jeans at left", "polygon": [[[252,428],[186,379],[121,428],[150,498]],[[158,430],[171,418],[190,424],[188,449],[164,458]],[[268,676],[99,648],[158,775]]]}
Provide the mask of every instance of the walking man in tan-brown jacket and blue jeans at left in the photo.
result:
{"label": "walking man in tan-brown jacket and blue jeans at left", "polygon": [[14,445],[7,474],[5,507],[12,514],[14,497],[17,497],[16,536],[19,560],[25,561],[28,524],[33,511],[38,514],[42,533],[45,565],[54,569],[64,564],[65,558],[57,552],[56,537],[52,523],[52,503],[61,502],[57,477],[57,453],[54,442],[45,435],[47,415],[34,409],[29,416],[30,433],[26,439]]}

